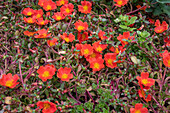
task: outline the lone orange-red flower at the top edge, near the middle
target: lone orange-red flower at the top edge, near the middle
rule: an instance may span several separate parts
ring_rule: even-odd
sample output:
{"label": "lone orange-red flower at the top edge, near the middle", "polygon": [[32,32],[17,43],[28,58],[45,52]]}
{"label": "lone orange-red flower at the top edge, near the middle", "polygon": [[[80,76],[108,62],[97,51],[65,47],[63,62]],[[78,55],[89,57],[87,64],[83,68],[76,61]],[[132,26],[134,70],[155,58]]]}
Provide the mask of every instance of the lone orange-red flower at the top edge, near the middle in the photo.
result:
{"label": "lone orange-red flower at the top edge, near the middle", "polygon": [[91,6],[92,6],[92,4],[91,4],[91,2],[89,2],[89,1],[81,1],[81,4],[82,5],[78,5],[78,10],[81,12],[81,13],[85,13],[85,14],[87,14],[87,13],[90,13],[91,12]]}

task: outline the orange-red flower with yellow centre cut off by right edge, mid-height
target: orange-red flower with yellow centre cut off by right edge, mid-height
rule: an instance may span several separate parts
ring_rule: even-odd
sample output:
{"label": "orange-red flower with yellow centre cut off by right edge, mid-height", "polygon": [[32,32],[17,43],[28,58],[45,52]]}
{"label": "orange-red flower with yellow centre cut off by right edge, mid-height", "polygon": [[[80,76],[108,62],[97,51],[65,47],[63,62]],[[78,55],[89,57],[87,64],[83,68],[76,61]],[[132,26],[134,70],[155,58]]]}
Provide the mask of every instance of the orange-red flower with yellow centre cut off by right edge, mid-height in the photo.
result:
{"label": "orange-red flower with yellow centre cut off by right edge, mid-height", "polygon": [[170,52],[168,52],[167,50],[162,53],[163,56],[163,63],[166,67],[170,67]]}

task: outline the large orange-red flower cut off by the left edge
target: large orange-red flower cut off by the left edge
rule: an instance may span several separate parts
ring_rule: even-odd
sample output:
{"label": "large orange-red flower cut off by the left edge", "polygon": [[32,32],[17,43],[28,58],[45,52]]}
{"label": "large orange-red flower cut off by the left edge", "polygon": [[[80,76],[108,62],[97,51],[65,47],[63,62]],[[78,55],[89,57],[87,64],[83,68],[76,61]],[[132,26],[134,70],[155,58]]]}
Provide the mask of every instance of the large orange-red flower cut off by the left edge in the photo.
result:
{"label": "large orange-red flower cut off by the left edge", "polygon": [[14,88],[16,85],[19,84],[19,82],[17,82],[17,80],[19,79],[18,75],[14,75],[12,76],[11,73],[3,74],[2,78],[0,79],[0,85],[2,86],[6,86],[9,88]]}

